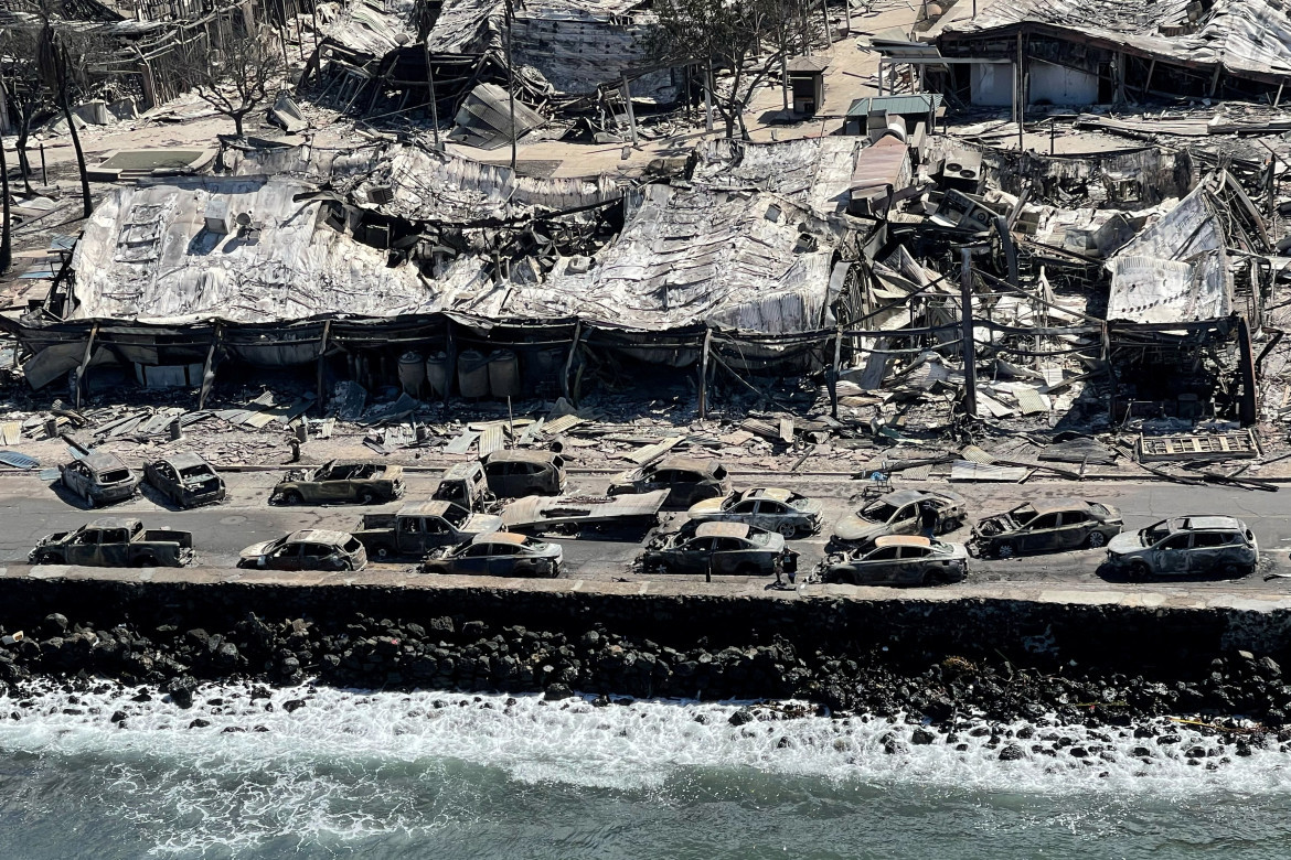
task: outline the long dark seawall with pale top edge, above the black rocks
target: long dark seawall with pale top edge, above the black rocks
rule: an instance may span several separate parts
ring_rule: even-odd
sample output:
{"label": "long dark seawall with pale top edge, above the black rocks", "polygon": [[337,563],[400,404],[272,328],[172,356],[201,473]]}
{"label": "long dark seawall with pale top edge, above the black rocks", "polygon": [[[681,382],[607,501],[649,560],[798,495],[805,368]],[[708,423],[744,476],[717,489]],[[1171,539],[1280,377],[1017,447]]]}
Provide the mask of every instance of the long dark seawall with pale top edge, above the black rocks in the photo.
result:
{"label": "long dark seawall with pale top edge, above the black rocks", "polygon": [[780,638],[824,654],[888,647],[893,655],[1007,655],[1075,660],[1155,674],[1205,668],[1219,654],[1291,655],[1291,600],[1225,592],[1016,587],[933,592],[811,587],[751,592],[684,581],[462,580],[400,574],[341,576],[231,571],[10,567],[0,574],[0,625],[32,629],[50,612],[107,629],[231,629],[248,614],[341,628],[356,616],[395,625],[451,618],[460,628],[523,627],[569,637],[602,629],[673,649]]}

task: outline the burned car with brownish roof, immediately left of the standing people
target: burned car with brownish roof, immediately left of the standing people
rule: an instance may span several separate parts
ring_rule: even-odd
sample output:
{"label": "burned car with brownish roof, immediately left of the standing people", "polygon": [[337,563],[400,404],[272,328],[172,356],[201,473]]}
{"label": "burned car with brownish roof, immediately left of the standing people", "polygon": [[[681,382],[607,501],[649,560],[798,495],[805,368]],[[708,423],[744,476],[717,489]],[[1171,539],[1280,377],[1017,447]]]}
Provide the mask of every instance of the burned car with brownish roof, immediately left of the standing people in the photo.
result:
{"label": "burned car with brownish roof, immediately left of the standing people", "polygon": [[744,522],[700,522],[664,535],[642,554],[642,567],[665,574],[778,576],[798,570],[782,535]]}

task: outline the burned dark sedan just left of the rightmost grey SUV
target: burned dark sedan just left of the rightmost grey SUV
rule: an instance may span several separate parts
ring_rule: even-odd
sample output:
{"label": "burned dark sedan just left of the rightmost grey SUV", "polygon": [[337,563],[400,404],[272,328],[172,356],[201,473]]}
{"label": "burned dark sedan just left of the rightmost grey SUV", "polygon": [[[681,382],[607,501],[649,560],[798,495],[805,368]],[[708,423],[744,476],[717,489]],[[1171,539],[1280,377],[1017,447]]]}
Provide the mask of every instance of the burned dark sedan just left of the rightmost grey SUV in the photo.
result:
{"label": "burned dark sedan just left of the rightmost grey SUV", "polygon": [[984,556],[1097,549],[1121,534],[1121,514],[1099,502],[1037,499],[982,518],[972,540]]}

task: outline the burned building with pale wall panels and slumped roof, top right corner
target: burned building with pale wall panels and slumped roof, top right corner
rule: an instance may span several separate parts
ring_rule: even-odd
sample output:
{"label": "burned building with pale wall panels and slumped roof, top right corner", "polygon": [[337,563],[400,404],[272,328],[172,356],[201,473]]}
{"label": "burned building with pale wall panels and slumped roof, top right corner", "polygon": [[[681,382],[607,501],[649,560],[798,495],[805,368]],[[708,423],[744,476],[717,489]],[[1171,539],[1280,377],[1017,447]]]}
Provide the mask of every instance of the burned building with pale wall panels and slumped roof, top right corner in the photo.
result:
{"label": "burned building with pale wall panels and slumped roof, top right corner", "polygon": [[1291,19],[1277,0],[993,4],[946,27],[939,46],[948,58],[998,61],[944,67],[944,92],[979,106],[1277,103],[1291,79]]}

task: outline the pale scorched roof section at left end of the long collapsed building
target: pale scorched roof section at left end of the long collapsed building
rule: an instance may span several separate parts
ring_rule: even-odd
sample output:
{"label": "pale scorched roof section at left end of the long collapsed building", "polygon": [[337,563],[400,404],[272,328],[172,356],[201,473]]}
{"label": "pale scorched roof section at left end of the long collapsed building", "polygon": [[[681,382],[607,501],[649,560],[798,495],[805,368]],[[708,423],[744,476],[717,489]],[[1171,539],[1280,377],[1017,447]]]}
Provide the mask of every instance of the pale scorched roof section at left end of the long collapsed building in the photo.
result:
{"label": "pale scorched roof section at left end of the long collapsed building", "polygon": [[117,188],[72,257],[67,318],[238,322],[434,308],[417,269],[332,227],[285,178],[186,178]]}

